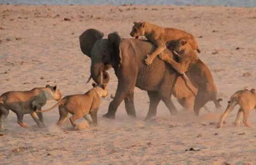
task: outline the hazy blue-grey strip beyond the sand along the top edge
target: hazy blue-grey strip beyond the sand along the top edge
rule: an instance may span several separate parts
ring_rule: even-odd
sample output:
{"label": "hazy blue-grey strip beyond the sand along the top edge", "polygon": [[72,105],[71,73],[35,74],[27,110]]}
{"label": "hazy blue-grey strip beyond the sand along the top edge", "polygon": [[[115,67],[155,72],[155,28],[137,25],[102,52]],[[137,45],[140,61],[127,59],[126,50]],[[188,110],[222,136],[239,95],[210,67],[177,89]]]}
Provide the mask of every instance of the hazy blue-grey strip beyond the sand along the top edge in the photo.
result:
{"label": "hazy blue-grey strip beyond the sand along the top edge", "polygon": [[256,0],[0,0],[10,4],[176,4],[176,5],[218,5],[218,6],[256,6]]}

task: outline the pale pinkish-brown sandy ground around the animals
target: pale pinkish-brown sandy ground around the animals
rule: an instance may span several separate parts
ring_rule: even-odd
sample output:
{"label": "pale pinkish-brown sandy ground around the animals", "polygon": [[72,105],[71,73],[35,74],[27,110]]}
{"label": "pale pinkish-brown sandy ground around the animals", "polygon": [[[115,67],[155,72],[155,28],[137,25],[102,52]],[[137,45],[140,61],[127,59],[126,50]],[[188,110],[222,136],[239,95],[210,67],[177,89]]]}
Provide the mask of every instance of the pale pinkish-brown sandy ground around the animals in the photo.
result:
{"label": "pale pinkish-brown sandy ground around the animals", "polygon": [[[107,97],[98,113],[99,126],[82,131],[72,130],[69,121],[58,128],[57,109],[45,113],[44,129],[36,127],[30,115],[24,121],[31,127],[20,127],[11,111],[0,132],[1,164],[256,164],[255,128],[232,125],[237,108],[227,124],[216,129],[229,97],[246,86],[256,87],[256,8],[0,5],[0,93],[46,83],[58,84],[63,96],[86,92],[91,88],[86,85],[90,59],[79,48],[79,35],[93,27],[105,36],[118,31],[128,38],[136,20],[196,36],[202,50],[198,56],[211,69],[223,97],[221,111],[208,103],[212,113],[202,110],[195,117],[180,111],[172,116],[161,103],[156,120],[144,122],[148,97],[140,89],[134,96],[137,118],[126,115],[124,103],[116,120],[102,118],[111,101]],[[110,73],[109,93],[115,93],[117,79],[113,70]],[[253,110],[249,119],[254,127],[255,115]],[[186,151],[189,148],[196,151]]]}

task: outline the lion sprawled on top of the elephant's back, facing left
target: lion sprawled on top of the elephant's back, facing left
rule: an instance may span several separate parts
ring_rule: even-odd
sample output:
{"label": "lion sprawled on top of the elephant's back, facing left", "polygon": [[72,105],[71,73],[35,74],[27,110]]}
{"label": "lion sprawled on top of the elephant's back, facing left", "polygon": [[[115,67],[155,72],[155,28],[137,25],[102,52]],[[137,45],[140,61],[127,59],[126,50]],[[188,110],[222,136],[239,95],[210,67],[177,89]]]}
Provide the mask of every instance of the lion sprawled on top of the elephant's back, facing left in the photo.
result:
{"label": "lion sprawled on top of the elephant's back, facing left", "polygon": [[150,24],[149,22],[133,22],[133,24],[130,33],[132,37],[138,38],[139,36],[145,36],[156,46],[156,49],[150,55],[147,55],[147,59],[145,59],[147,65],[151,64],[154,58],[165,50],[165,43],[167,41],[179,38],[186,39],[189,45],[191,45],[191,48],[200,53],[195,37],[188,32],[175,28],[164,28],[159,25]]}

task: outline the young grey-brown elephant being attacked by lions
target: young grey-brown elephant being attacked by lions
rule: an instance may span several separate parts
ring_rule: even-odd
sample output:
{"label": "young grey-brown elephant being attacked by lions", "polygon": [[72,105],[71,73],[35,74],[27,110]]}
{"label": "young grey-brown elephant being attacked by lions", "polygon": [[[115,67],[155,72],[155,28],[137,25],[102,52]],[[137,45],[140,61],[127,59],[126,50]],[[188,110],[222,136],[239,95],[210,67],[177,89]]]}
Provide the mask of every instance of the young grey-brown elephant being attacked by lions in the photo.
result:
{"label": "young grey-brown elephant being attacked by lions", "polygon": [[[79,36],[81,51],[92,60],[92,79],[96,83],[108,82],[109,68],[115,70],[118,78],[115,97],[103,117],[115,119],[116,110],[123,100],[127,114],[136,117],[134,87],[148,93],[150,103],[145,120],[156,117],[157,105],[161,100],[172,115],[177,114],[171,96],[180,74],[158,58],[151,65],[145,65],[145,55],[154,50],[154,45],[146,40],[121,38],[117,32],[110,33],[108,38],[103,36],[97,29],[88,29]],[[172,55],[170,50],[165,51]],[[100,76],[102,73],[103,78]]]}

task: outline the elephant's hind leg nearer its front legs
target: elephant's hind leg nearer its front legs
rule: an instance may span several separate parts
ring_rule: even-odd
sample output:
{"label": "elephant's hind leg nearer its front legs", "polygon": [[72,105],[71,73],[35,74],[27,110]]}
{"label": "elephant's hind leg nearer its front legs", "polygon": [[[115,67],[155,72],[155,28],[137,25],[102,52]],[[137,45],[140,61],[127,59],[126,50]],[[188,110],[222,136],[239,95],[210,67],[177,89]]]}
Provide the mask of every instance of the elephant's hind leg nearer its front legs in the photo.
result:
{"label": "elephant's hind leg nearer its front legs", "polygon": [[148,114],[145,120],[149,120],[152,117],[156,117],[157,105],[161,100],[158,92],[148,92],[148,97],[149,97],[149,109],[148,109]]}

